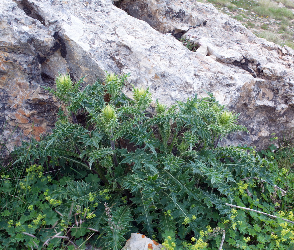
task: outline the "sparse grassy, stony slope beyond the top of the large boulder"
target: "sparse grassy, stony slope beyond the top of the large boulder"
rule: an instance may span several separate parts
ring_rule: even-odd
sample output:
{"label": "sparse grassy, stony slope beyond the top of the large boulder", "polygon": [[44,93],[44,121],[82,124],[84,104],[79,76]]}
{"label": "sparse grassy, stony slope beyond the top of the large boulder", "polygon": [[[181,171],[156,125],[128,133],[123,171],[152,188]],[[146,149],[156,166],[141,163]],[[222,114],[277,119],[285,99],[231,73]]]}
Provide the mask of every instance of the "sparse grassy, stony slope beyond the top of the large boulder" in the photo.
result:
{"label": "sparse grassy, stony slope beyond the top of the large boulder", "polygon": [[[208,0],[221,12],[235,18],[256,36],[294,48],[294,3],[290,0]],[[284,4],[284,6],[278,3]],[[266,34],[270,30],[273,34]]]}

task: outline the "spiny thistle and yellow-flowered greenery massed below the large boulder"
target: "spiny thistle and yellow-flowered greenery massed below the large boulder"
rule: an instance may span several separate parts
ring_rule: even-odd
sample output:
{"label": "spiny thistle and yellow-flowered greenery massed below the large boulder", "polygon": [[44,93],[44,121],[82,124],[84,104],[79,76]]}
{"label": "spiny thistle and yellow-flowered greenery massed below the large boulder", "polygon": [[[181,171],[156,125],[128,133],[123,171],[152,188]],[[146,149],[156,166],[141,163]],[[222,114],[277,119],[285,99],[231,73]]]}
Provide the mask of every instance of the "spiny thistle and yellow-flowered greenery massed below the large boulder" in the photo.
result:
{"label": "spiny thistle and yellow-flowered greenery massed below the large boulder", "polygon": [[152,115],[148,89],[121,92],[127,77],[47,88],[64,109],[1,170],[1,248],[118,250],[140,232],[169,250],[292,249],[291,147],[220,147],[246,128],[211,93]]}

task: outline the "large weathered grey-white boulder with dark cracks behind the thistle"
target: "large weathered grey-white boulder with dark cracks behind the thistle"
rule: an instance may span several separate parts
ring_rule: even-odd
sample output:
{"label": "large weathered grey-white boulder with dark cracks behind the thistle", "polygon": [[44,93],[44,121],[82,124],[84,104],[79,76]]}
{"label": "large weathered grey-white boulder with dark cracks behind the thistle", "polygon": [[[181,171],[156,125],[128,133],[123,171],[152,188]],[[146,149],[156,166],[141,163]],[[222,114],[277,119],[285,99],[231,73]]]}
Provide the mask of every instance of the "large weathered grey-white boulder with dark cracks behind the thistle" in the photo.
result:
{"label": "large weathered grey-white boulder with dark cracks behind the thistle", "polygon": [[130,72],[130,83],[168,105],[212,92],[241,113],[250,132],[231,136],[235,144],[263,148],[271,133],[282,138],[294,128],[294,51],[256,37],[211,4],[2,0],[0,9],[0,126],[10,150],[50,132],[58,103],[40,85],[53,86],[58,72],[87,75],[85,84],[104,70]]}

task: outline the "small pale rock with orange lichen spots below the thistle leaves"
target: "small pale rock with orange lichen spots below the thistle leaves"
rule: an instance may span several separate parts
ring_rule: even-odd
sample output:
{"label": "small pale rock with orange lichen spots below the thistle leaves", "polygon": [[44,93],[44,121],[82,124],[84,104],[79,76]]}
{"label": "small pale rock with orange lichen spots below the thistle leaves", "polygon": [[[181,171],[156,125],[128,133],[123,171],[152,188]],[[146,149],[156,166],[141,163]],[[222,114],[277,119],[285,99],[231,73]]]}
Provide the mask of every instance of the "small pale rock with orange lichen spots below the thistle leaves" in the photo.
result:
{"label": "small pale rock with orange lichen spots below the thistle leaves", "polygon": [[160,250],[162,248],[161,244],[137,232],[131,234],[131,237],[121,250]]}

